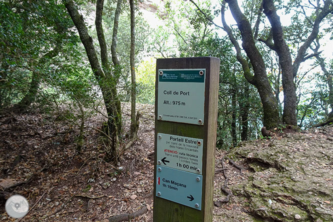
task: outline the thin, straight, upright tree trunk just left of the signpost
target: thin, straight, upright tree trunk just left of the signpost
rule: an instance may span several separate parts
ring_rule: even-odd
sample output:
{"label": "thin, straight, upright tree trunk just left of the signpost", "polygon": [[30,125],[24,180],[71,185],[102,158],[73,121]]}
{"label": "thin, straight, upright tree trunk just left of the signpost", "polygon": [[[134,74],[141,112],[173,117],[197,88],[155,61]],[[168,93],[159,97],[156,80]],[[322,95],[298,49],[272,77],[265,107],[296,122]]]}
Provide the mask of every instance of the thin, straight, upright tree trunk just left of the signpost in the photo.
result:
{"label": "thin, straight, upright tree trunk just left of the signpost", "polygon": [[135,118],[135,103],[136,103],[136,80],[135,80],[135,10],[134,0],[129,0],[130,6],[130,76],[131,76],[131,89],[130,89],[130,130],[129,137],[136,136],[137,126]]}

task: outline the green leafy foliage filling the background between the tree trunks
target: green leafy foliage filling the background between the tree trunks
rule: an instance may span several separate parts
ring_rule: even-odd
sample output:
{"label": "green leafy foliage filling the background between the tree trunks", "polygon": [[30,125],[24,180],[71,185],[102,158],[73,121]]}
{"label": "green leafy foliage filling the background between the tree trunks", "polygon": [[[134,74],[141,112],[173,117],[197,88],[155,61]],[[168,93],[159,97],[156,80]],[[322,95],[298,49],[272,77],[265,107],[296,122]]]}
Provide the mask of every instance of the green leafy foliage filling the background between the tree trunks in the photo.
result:
{"label": "green leafy foliage filling the background between the tree trunks", "polygon": [[[294,57],[300,44],[308,36],[316,15],[311,9],[311,2],[276,2],[279,2],[276,5],[279,15],[290,14],[291,22],[283,28]],[[94,17],[95,0],[78,0],[75,3],[78,4],[80,12],[88,15],[86,17]],[[250,21],[253,32],[260,3],[260,0],[242,1],[242,10]],[[107,48],[110,48],[112,43],[115,4],[115,0],[105,1],[103,10],[102,20]],[[199,1],[197,4],[210,18],[219,13],[219,5],[216,7],[209,0]],[[305,10],[299,10],[300,5],[303,5]],[[219,57],[221,63],[217,146],[229,148],[233,145],[232,122],[236,125],[238,141],[245,124],[248,126],[246,138],[258,137],[262,125],[262,104],[255,88],[244,79],[233,46],[225,33],[212,26],[188,1],[166,0],[164,9],[157,11],[161,23],[155,29],[151,29],[139,13],[135,19],[137,102],[154,103],[155,60],[152,57],[142,60],[143,57],[150,54],[158,54],[158,57]],[[331,18],[330,14],[325,19],[326,23],[320,29],[323,31],[318,39],[331,32]],[[87,23],[91,21],[88,20]],[[265,24],[267,18],[262,14],[258,36],[263,39],[267,39],[271,34],[270,27]],[[117,40],[120,65],[111,65],[111,74],[98,80],[92,74],[84,48],[79,44],[74,25],[61,1],[0,1],[0,109],[12,107],[28,95],[35,76],[38,84],[33,89],[37,93],[33,107],[50,112],[55,109],[58,116],[72,123],[84,122],[92,113],[102,112],[103,97],[112,99],[114,91],[102,95],[101,86],[116,86],[117,98],[129,101],[129,26],[128,3],[123,2]],[[89,27],[89,33],[96,51],[99,51],[94,25]],[[237,31],[234,31],[234,35],[240,40]],[[275,93],[282,93],[276,53],[260,41],[256,41],[256,45],[265,61],[269,81]],[[108,57],[111,58],[110,52]],[[327,76],[318,72],[309,74],[308,78],[301,78],[295,78],[296,83],[298,80],[301,82],[297,116],[298,124],[307,128],[323,120],[333,108],[333,101],[329,100],[331,97]],[[281,103],[279,108],[282,110]],[[244,110],[248,111],[246,123],[242,119]]]}

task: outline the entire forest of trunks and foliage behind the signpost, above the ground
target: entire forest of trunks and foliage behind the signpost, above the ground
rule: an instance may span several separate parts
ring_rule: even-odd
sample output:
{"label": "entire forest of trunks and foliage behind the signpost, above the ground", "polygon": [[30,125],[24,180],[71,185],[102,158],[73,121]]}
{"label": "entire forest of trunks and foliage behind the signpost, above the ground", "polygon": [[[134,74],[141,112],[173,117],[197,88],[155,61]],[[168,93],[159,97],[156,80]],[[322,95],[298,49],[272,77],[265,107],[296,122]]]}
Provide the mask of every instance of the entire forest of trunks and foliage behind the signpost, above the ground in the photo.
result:
{"label": "entire forest of trunks and foliage behind the signpost, above the ground", "polygon": [[[155,59],[220,58],[217,146],[331,122],[331,0],[0,2],[0,110],[79,129],[100,114],[110,158],[154,103]],[[127,124],[121,110],[131,102]]]}

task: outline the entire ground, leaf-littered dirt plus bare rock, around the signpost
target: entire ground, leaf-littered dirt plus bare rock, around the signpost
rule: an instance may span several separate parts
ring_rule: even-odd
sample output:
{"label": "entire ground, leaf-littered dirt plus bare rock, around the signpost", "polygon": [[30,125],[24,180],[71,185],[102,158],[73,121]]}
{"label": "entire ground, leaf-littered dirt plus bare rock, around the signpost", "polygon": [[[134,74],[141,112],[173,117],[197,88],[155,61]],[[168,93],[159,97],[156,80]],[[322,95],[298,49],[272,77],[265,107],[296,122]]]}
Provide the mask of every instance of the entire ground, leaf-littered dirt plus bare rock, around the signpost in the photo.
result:
{"label": "entire ground, leaf-littered dirt plus bare rock, around the signpost", "polygon": [[[75,125],[38,113],[0,116],[0,221],[19,221],[4,210],[3,199],[14,193],[29,201],[20,221],[106,222],[144,207],[148,211],[131,221],[152,221],[154,109],[138,109],[138,140],[122,149],[118,165],[105,161],[105,144],[91,128],[100,128],[98,116],[85,123],[80,153]],[[124,105],[125,119],[128,111]],[[213,221],[333,221],[332,149],[328,126],[216,150],[214,200],[225,198],[222,159],[232,196],[214,206]]]}

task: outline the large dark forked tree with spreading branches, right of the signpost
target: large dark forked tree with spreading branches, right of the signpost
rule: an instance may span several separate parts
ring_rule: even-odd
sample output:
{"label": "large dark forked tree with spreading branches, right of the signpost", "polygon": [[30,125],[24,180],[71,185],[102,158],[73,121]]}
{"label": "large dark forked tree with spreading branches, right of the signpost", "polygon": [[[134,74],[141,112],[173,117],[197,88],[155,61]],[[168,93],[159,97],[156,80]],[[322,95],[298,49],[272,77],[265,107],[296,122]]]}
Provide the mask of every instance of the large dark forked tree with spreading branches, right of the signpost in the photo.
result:
{"label": "large dark forked tree with spreading branches, right of the signpost", "polygon": [[[311,16],[306,17],[305,20],[311,24],[311,28],[303,33],[302,39],[298,42],[295,55],[292,56],[291,51],[293,48],[287,44],[284,36],[284,27],[281,25],[280,17],[277,14],[276,6],[273,0],[258,1],[256,7],[256,19],[252,19],[253,25],[245,14],[241,11],[237,0],[223,0],[220,3],[220,12],[222,25],[217,25],[209,14],[206,14],[193,0],[190,0],[198,10],[205,15],[215,26],[222,28],[227,32],[227,35],[232,42],[238,62],[241,64],[244,76],[247,81],[253,84],[260,95],[263,106],[263,125],[266,128],[273,128],[280,123],[278,104],[274,97],[272,88],[268,81],[267,70],[262,54],[260,53],[258,44],[263,42],[269,49],[276,52],[279,60],[282,75],[283,86],[283,115],[282,123],[289,125],[297,125],[296,106],[297,96],[296,87],[294,84],[294,77],[296,76],[301,62],[315,56],[316,54],[308,54],[310,45],[318,36],[320,23],[323,19],[333,11],[332,0],[318,0],[316,3],[309,2],[308,9],[312,9]],[[252,1],[252,4],[255,2]],[[297,2],[291,2],[290,5],[300,7]],[[224,12],[228,5],[233,18],[237,23],[237,33],[240,33],[241,46],[233,29],[226,23],[224,19]],[[259,32],[260,23],[264,22],[265,18],[269,21],[269,31],[266,34]],[[264,25],[265,28],[267,24]],[[243,55],[246,53],[246,57]],[[248,62],[249,61],[249,62]],[[252,71],[253,70],[253,73]]]}

